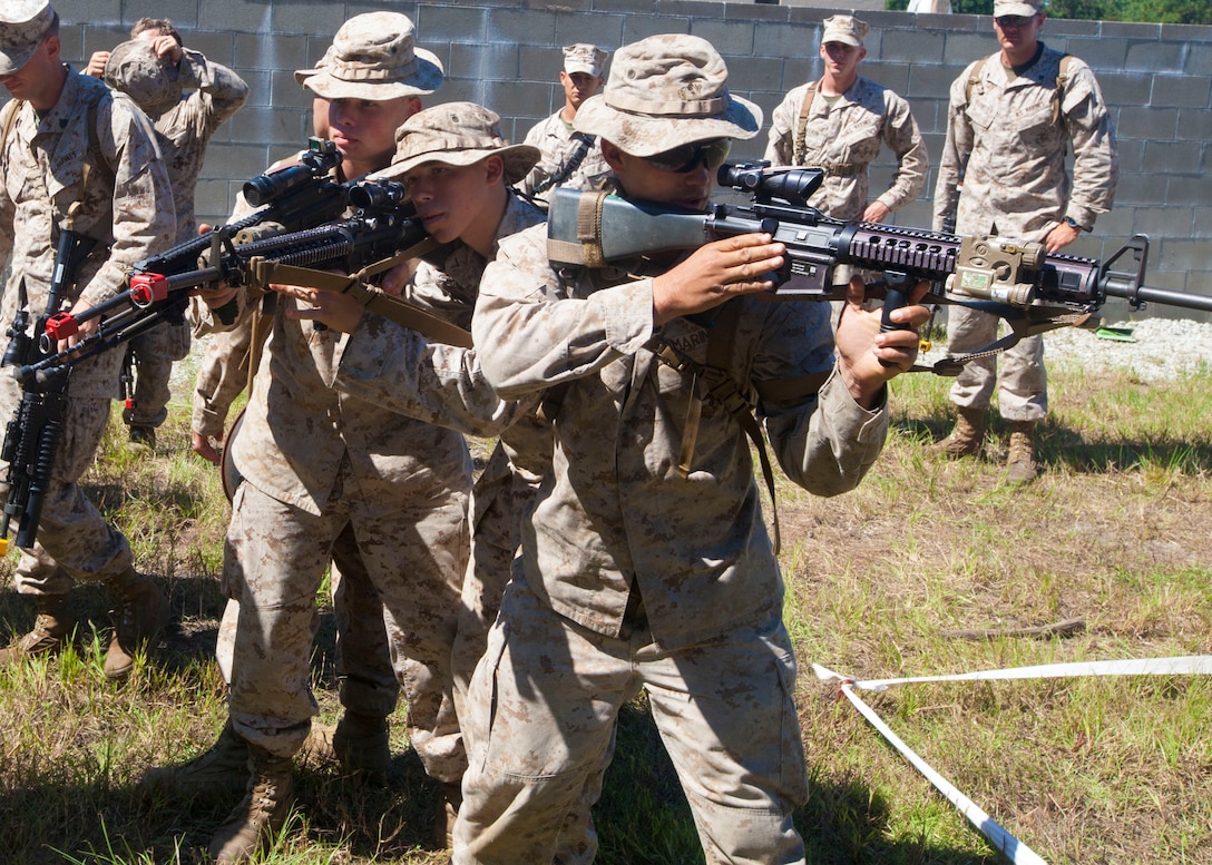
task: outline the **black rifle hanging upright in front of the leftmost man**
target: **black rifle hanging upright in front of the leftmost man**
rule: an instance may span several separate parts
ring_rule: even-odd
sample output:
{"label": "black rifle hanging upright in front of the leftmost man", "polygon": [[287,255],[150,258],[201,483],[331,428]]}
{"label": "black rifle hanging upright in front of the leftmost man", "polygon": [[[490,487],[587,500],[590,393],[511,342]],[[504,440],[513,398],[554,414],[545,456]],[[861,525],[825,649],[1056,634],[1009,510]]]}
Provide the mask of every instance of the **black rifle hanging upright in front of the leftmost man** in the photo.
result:
{"label": "black rifle hanging upright in front of the leftmost man", "polygon": [[[73,216],[74,210],[68,213],[69,223]],[[34,333],[30,334],[27,330],[29,311],[25,309],[25,286],[22,283],[21,308],[8,328],[8,345],[0,366],[38,363],[51,355],[55,344],[47,334],[47,323],[58,314],[65,290],[75,283],[76,271],[96,242],[95,237],[70,228],[59,230],[46,309],[34,322]],[[5,482],[8,492],[4,516],[0,517],[0,556],[8,551],[8,526],[13,517],[18,520],[17,546],[34,545],[34,534],[51,480],[55,449],[63,426],[69,373],[70,368],[65,368],[45,377],[36,388],[23,388],[16,416],[5,430],[0,459],[7,463]]]}

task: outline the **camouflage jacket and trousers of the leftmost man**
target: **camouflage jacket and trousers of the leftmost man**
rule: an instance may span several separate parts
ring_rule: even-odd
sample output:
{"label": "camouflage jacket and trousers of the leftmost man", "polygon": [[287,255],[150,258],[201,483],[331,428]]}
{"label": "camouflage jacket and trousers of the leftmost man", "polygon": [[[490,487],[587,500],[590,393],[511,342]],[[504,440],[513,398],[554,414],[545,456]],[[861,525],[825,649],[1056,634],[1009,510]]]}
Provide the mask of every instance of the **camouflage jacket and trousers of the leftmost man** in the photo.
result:
{"label": "camouflage jacket and trousers of the leftmost man", "polygon": [[[68,288],[64,308],[91,307],[118,294],[131,265],[167,248],[176,233],[172,190],[155,134],[126,96],[69,70],[58,103],[45,116],[24,103],[10,102],[4,114],[12,110],[16,121],[0,153],[0,260],[11,263],[0,332],[12,325],[23,297],[30,326],[45,311],[58,225],[72,204],[80,205],[75,229],[97,245],[76,285]],[[92,136],[90,118],[96,119]],[[91,171],[81,187],[85,161]],[[72,372],[38,543],[22,550],[17,566],[22,594],[63,595],[73,578],[104,580],[131,567],[126,538],[105,523],[76,483],[101,442],[121,360],[120,351],[105,351]],[[19,400],[17,382],[0,376],[0,416],[11,418]]]}

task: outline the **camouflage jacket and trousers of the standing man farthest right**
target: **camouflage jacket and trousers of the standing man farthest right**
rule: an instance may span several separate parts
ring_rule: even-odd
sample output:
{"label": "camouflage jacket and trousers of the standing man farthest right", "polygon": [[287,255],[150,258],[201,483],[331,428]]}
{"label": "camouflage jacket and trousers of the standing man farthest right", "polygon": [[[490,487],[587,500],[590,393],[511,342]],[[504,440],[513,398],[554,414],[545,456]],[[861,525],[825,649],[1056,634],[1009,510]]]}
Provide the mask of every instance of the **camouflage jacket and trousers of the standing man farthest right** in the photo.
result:
{"label": "camouflage jacket and trousers of the standing man farthest right", "polygon": [[[993,55],[970,64],[951,84],[947,143],[934,190],[936,230],[955,213],[960,235],[1042,241],[1065,217],[1088,229],[1099,213],[1110,210],[1119,160],[1098,81],[1085,62],[1070,56],[1057,103],[1064,55],[1041,47],[1035,63],[1018,75]],[[982,63],[979,76],[970,85],[977,63]],[[1067,148],[1074,155],[1071,181]],[[996,332],[993,315],[962,307],[948,311],[953,354],[979,350],[996,339]],[[1028,337],[1000,356],[1001,416],[1041,420],[1047,412],[1042,338]],[[987,407],[999,383],[996,363],[997,357],[966,363],[951,386],[951,401],[960,407]]]}

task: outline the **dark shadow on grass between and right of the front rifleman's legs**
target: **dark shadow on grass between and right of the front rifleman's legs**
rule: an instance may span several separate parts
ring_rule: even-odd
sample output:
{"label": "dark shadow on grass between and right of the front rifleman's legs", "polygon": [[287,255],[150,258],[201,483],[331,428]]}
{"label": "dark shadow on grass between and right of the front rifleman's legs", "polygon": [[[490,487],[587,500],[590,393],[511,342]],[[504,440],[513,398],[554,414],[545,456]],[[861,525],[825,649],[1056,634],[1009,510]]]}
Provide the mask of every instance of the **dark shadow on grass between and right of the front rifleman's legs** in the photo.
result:
{"label": "dark shadow on grass between and right of the front rifleman's legs", "polygon": [[[891,806],[859,783],[813,779],[807,804],[795,814],[810,865],[991,865],[976,855],[887,838]],[[624,706],[618,746],[594,808],[601,842],[598,865],[690,865],[703,861],[690,806],[646,708]]]}

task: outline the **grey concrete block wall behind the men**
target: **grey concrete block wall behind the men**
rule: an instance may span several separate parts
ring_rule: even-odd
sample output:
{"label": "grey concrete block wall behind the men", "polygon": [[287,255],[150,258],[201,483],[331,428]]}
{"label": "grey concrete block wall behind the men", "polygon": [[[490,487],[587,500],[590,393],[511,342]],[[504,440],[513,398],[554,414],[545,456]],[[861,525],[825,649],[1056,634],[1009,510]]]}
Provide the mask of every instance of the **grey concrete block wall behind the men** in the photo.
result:
{"label": "grey concrete block wall behind the men", "polygon": [[[447,70],[429,102],[471,99],[498,111],[520,141],[562,103],[560,46],[593,41],[613,50],[654,33],[710,40],[731,69],[732,90],[767,118],[785,91],[819,75],[821,21],[835,7],[705,0],[56,0],[64,56],[80,63],[126,38],[144,15],[170,17],[187,45],[236,69],[251,85],[248,105],[215,138],[199,184],[199,216],[225,216],[240,184],[297,148],[310,130],[310,99],[292,70],[318,61],[341,23],[390,8],[410,16],[418,42]],[[867,0],[862,0],[867,2]],[[977,16],[909,15],[863,8],[871,24],[862,71],[905,96],[937,160],[947,124],[947,92],[964,67],[996,44]],[[1149,285],[1212,294],[1212,28],[1052,18],[1044,40],[1094,69],[1111,105],[1120,144],[1115,210],[1075,254],[1111,254],[1132,234],[1151,239]],[[768,128],[768,122],[767,122]],[[739,144],[758,157],[765,133]],[[873,166],[873,187],[892,162]],[[902,210],[904,225],[928,227],[933,171],[922,197]],[[1122,314],[1125,304],[1107,311]],[[1151,308],[1156,315],[1210,320]]]}

